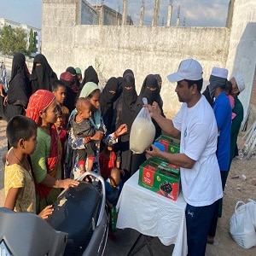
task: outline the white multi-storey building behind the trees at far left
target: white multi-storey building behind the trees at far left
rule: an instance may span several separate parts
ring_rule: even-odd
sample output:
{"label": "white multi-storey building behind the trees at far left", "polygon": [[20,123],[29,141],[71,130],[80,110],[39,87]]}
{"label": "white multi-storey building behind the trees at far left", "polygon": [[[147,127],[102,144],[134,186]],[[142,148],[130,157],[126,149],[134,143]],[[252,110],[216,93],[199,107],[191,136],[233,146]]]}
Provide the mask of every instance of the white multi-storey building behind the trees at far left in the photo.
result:
{"label": "white multi-storey building behind the trees at far left", "polygon": [[29,36],[30,36],[30,30],[32,29],[32,32],[34,33],[34,38],[35,38],[35,44],[36,44],[36,52],[35,55],[38,53],[41,53],[41,29],[34,27],[34,26],[29,26],[26,24],[21,24],[19,22],[15,22],[13,20],[7,20],[4,18],[0,18],[0,29],[3,28],[3,26],[10,26],[12,28],[22,28],[23,30],[26,31],[26,46],[28,48],[29,46]]}

